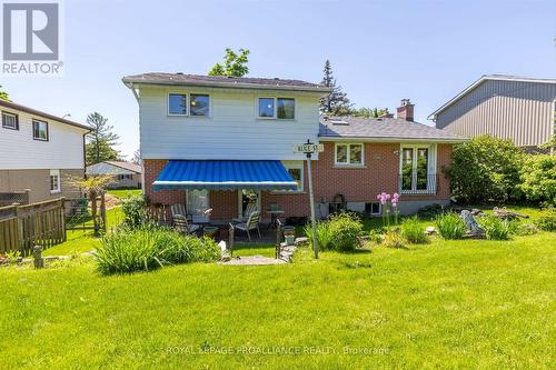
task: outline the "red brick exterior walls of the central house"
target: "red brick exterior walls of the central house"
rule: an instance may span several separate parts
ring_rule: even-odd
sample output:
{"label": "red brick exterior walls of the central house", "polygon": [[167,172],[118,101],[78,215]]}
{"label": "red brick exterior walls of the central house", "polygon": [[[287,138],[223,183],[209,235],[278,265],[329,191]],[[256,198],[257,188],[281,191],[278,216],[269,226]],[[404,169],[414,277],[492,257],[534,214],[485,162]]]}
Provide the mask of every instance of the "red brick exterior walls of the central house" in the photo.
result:
{"label": "red brick exterior walls of the central house", "polygon": [[[339,168],[334,164],[334,142],[325,143],[325,151],[319,154],[319,160],[314,161],[314,187],[316,202],[330,202],[337,193],[341,193],[348,202],[376,201],[376,196],[383,191],[394,193],[398,191],[399,181],[399,143],[365,144],[364,168]],[[401,201],[430,200],[446,201],[449,199],[449,182],[443,174],[443,168],[448,166],[451,158],[451,144],[437,146],[437,194],[407,196],[403,194]],[[145,193],[151,203],[173,204],[185,203],[185,191],[152,190],[156,180],[167,160],[145,160]],[[270,203],[277,203],[285,210],[285,217],[307,216],[309,213],[309,196],[307,168],[305,167],[305,191],[302,193],[272,193],[261,192],[261,209],[266,210]],[[230,220],[238,217],[237,191],[210,191],[210,207],[212,220]],[[268,214],[262,214],[268,218]]]}

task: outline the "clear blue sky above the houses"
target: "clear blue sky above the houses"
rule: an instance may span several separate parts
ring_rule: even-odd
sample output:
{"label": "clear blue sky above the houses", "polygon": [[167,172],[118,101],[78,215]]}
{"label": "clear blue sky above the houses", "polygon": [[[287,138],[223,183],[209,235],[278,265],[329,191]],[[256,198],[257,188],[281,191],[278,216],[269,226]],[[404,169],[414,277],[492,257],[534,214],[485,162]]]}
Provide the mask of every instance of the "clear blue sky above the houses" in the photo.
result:
{"label": "clear blue sky above the houses", "polygon": [[224,49],[251,51],[249,76],[318,82],[331,61],[357,107],[401,98],[426,117],[485,73],[556,77],[556,1],[66,0],[61,78],[0,78],[16,102],[85,122],[109,118],[139,146],[126,74],[205,74]]}

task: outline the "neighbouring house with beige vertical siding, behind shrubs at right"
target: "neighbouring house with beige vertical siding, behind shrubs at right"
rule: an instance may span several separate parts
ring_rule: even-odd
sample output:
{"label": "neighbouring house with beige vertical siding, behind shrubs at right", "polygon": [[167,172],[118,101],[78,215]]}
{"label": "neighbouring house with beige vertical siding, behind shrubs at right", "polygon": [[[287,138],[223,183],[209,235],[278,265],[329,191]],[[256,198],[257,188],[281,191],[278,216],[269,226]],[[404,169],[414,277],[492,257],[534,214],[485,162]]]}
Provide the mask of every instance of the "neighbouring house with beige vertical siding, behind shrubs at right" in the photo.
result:
{"label": "neighbouring house with beige vertical siding, behind shrubs at right", "polygon": [[556,79],[487,74],[428,119],[460,136],[490,134],[538,147],[556,133]]}

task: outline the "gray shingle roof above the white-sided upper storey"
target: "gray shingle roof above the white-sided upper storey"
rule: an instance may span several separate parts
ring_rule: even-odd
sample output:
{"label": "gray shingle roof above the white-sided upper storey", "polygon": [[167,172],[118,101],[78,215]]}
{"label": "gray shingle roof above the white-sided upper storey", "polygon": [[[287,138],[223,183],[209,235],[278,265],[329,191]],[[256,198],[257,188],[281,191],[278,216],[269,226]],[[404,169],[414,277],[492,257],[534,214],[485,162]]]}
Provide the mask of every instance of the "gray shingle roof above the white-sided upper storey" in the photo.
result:
{"label": "gray shingle roof above the white-sided upper storey", "polygon": [[151,83],[171,86],[236,87],[256,89],[304,90],[328,92],[329,88],[318,83],[278,78],[199,76],[183,73],[149,72],[127,76],[123,83]]}

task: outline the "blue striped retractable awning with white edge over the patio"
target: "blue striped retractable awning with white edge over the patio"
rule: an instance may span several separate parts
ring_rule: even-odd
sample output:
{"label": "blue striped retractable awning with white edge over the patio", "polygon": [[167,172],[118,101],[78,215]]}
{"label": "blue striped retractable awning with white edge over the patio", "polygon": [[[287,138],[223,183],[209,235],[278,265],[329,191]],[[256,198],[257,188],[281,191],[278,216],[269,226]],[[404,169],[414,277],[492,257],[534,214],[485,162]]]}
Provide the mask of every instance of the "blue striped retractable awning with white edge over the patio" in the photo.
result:
{"label": "blue striped retractable awning with white edge over the patio", "polygon": [[297,182],[280,161],[170,160],[155,191],[176,189],[296,190]]}

